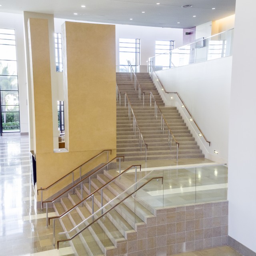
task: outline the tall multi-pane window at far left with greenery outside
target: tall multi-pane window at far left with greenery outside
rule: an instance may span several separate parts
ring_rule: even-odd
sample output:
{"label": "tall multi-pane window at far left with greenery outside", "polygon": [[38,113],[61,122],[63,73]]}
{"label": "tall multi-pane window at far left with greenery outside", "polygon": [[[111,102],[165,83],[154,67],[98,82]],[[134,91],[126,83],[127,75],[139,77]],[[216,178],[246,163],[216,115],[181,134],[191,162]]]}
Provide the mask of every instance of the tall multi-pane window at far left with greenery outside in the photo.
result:
{"label": "tall multi-pane window at far left with greenery outside", "polygon": [[20,132],[15,30],[0,28],[0,133]]}

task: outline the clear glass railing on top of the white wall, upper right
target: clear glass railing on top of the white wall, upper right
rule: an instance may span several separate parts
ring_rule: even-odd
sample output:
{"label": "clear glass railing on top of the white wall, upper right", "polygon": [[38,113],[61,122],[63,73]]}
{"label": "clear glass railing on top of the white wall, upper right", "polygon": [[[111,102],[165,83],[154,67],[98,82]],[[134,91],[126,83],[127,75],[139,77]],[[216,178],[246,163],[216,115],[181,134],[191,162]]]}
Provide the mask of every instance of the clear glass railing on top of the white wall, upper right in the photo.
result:
{"label": "clear glass railing on top of the white wall, upper right", "polygon": [[150,58],[155,71],[232,55],[234,28]]}

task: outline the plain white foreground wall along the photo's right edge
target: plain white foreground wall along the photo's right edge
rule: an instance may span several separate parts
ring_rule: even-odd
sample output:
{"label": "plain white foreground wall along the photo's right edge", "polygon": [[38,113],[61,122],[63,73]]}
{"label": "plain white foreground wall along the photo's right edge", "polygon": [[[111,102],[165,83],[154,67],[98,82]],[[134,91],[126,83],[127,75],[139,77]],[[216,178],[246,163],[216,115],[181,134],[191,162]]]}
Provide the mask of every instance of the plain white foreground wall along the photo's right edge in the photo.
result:
{"label": "plain white foreground wall along the photo's right edge", "polygon": [[[249,6],[249,7],[248,7]],[[236,0],[230,97],[228,234],[256,252],[255,0]],[[244,35],[250,35],[250,40]]]}

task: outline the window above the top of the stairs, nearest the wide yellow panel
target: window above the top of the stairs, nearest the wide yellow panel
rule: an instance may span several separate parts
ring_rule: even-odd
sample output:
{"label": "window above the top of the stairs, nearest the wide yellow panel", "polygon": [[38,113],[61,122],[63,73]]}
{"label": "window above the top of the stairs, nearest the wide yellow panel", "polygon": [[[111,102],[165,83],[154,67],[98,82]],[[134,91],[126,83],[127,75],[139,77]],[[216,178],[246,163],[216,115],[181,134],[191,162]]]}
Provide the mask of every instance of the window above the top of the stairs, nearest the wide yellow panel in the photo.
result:
{"label": "window above the top of the stairs, nearest the wide yellow panel", "polygon": [[127,60],[130,60],[134,71],[140,65],[140,39],[119,38],[120,72],[128,71]]}

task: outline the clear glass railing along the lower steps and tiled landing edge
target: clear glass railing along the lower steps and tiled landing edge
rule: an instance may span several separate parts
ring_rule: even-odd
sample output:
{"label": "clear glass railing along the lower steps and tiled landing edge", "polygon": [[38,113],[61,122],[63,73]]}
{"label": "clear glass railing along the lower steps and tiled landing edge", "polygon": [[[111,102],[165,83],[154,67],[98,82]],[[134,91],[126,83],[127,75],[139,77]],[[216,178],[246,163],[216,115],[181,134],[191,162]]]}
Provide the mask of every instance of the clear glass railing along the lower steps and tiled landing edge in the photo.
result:
{"label": "clear glass railing along the lower steps and tiled landing edge", "polygon": [[[142,169],[137,172],[138,182],[132,184],[135,173],[130,170],[126,177],[117,178],[112,187],[101,192],[104,200],[109,201],[103,207],[100,208],[101,196],[94,197],[97,206],[94,214],[85,218],[82,215],[86,213],[85,207],[80,208],[83,221],[76,225],[76,230],[61,233],[58,248],[72,248],[78,255],[99,255],[108,247],[113,248],[115,239],[132,235],[136,225],[143,223],[145,216],[152,216],[156,208],[227,199],[228,169],[225,164]],[[118,195],[111,200],[110,191],[114,190]],[[92,202],[88,202],[89,209],[91,206]],[[75,213],[70,214],[73,224],[75,217]],[[126,233],[128,230],[131,232]]]}

